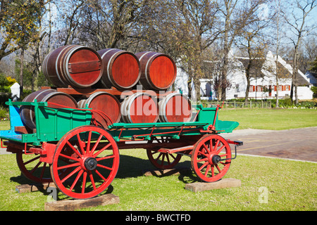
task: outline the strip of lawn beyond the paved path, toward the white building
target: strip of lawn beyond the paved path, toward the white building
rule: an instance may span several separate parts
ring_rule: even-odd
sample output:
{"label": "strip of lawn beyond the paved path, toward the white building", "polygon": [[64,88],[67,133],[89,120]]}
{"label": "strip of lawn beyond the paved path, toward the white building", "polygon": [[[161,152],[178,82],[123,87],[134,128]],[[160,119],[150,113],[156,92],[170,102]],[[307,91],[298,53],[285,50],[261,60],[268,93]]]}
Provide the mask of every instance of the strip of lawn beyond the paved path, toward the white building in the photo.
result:
{"label": "strip of lawn beyond the paved path, toward the white building", "polygon": [[219,120],[237,121],[237,129],[294,129],[317,126],[317,110],[311,109],[224,109]]}

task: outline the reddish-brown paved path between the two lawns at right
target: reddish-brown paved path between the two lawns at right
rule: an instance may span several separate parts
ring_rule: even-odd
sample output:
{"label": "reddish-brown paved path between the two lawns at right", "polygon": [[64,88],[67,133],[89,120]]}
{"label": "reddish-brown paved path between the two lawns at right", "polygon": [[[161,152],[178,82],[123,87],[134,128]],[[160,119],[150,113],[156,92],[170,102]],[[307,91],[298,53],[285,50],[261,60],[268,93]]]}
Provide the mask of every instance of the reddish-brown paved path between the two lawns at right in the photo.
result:
{"label": "reddish-brown paved path between the two lawns at right", "polygon": [[237,153],[317,162],[317,127],[282,131],[244,129],[223,134],[226,139],[243,141]]}

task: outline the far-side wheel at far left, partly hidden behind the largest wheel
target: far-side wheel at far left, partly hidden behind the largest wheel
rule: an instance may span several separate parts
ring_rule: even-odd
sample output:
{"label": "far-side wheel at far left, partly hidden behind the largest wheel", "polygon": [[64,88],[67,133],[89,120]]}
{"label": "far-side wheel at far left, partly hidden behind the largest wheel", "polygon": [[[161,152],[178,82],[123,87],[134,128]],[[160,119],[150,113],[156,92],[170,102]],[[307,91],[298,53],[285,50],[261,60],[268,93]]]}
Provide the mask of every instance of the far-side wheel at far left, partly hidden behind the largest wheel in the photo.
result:
{"label": "far-side wheel at far left, partly hidden behind the largest wheel", "polygon": [[50,165],[39,161],[40,155],[23,153],[23,150],[16,150],[16,162],[22,174],[31,181],[37,183],[50,183],[51,179]]}

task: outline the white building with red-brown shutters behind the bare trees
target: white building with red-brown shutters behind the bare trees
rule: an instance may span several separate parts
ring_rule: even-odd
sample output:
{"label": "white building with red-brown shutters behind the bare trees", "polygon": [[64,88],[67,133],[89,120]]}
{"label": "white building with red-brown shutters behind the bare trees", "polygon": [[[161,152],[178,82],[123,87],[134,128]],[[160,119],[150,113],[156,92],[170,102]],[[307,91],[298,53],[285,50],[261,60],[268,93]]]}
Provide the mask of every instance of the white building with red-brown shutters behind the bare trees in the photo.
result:
{"label": "white building with red-brown shutters behind the bare trees", "polygon": [[[226,90],[226,99],[245,98],[247,88],[247,78],[245,76],[245,68],[249,58],[230,56],[231,63],[228,72],[228,81],[230,88]],[[280,74],[282,77],[278,79],[276,86],[275,64],[276,56],[268,52],[266,59],[262,62],[261,71],[251,71],[249,98],[275,98],[278,89],[279,98],[290,97],[290,88],[292,85],[292,66],[287,64],[285,60],[278,57]],[[207,62],[208,63],[208,62]],[[269,69],[268,69],[269,68]],[[256,75],[255,75],[256,74]],[[175,79],[175,89],[181,89],[183,94],[188,94],[187,88],[188,75],[186,72],[178,68],[178,76]],[[201,82],[201,98],[212,99],[216,98],[215,91],[212,88],[213,78],[200,79]],[[301,71],[297,73],[297,95],[299,99],[312,99],[313,92],[311,86],[316,83],[316,79],[307,73],[304,75]],[[194,95],[194,84],[192,84],[192,96]]]}

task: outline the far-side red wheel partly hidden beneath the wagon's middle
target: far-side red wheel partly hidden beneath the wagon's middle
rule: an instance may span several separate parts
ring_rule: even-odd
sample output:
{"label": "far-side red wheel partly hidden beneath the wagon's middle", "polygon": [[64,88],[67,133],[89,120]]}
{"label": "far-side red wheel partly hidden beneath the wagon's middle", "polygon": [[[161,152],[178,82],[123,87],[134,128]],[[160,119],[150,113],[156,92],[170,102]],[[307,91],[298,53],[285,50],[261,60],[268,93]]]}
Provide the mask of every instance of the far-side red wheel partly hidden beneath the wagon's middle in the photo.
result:
{"label": "far-side red wheel partly hidden beneath the wagon's middle", "polygon": [[[168,143],[170,138],[162,136],[161,139],[155,138],[153,141],[156,141],[159,146],[160,143]],[[151,141],[151,143],[153,143],[153,141]],[[157,150],[159,150],[159,147],[157,149],[147,149],[147,157],[149,158],[151,164],[158,169],[171,169],[175,167],[175,165],[180,162],[180,158],[182,158],[182,155],[177,153],[160,153]]]}

